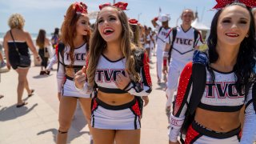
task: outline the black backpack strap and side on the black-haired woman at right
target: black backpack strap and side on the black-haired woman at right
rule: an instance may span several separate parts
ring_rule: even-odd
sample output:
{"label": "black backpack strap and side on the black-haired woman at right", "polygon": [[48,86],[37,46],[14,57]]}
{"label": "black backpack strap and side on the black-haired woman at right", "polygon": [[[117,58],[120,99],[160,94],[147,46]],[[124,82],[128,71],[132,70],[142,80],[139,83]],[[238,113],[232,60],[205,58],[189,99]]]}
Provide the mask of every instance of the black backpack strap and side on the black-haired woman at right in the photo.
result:
{"label": "black backpack strap and side on the black-haired woman at right", "polygon": [[[185,113],[185,120],[182,124],[182,128],[180,130],[180,141],[182,144],[185,141],[182,139],[182,134],[186,134],[189,126],[194,121],[195,110],[198,107],[198,104],[201,102],[202,94],[205,90],[206,86],[206,66],[194,63],[192,65],[192,74],[190,77],[190,86],[193,83],[192,93],[190,96],[190,102],[186,102],[187,110]],[[190,88],[187,88],[186,93],[190,92]],[[173,105],[174,106],[174,105]]]}

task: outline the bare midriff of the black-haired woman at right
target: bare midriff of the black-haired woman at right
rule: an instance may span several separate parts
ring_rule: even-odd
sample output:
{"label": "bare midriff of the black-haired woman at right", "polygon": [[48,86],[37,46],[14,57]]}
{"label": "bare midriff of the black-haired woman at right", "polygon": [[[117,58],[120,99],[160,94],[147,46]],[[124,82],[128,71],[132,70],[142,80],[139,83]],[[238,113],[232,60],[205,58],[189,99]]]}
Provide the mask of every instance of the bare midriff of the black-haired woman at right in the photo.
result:
{"label": "bare midriff of the black-haired woman at right", "polygon": [[194,120],[202,126],[217,132],[229,132],[241,125],[240,111],[218,112],[197,108]]}

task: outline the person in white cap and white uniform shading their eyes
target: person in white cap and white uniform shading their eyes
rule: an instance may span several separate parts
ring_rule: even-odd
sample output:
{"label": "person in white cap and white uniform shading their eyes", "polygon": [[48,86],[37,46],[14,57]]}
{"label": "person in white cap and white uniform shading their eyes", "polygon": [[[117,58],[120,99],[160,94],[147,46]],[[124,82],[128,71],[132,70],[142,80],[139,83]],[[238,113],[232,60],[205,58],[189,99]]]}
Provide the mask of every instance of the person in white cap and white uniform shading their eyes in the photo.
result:
{"label": "person in white cap and white uniform shading their eyes", "polygon": [[[162,26],[159,26],[157,21],[162,22]],[[157,74],[158,84],[161,83],[162,79],[162,52],[166,46],[165,38],[170,30],[168,22],[170,21],[170,15],[162,14],[159,17],[152,19],[152,24],[156,31],[158,31],[156,43],[157,43]],[[166,82],[166,74],[164,74],[163,80]]]}

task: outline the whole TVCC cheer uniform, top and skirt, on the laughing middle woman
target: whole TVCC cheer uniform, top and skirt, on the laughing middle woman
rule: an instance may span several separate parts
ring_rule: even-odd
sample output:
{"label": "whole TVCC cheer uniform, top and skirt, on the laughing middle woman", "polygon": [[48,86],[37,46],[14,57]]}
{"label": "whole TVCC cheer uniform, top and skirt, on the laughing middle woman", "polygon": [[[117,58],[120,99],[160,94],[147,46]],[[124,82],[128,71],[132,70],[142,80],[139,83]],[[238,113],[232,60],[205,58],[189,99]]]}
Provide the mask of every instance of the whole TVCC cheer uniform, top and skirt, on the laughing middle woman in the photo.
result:
{"label": "whole TVCC cheer uniform, top and skirt, on the laughing middle woman", "polygon": [[[126,58],[117,61],[110,61],[103,54],[98,60],[96,68],[95,83],[98,90],[109,94],[125,94],[130,93],[134,96],[147,96],[151,92],[151,78],[148,65],[148,57],[144,53],[143,66],[140,70],[142,82],[130,82],[124,90],[118,89],[115,85],[117,74],[125,74]],[[140,86],[138,86],[139,84]],[[140,89],[138,88],[140,87]],[[82,93],[93,93],[85,83]],[[136,130],[141,128],[141,108],[139,107],[138,97],[134,100],[120,106],[111,106],[102,102],[95,97],[92,100],[91,126],[98,129],[106,130]]]}

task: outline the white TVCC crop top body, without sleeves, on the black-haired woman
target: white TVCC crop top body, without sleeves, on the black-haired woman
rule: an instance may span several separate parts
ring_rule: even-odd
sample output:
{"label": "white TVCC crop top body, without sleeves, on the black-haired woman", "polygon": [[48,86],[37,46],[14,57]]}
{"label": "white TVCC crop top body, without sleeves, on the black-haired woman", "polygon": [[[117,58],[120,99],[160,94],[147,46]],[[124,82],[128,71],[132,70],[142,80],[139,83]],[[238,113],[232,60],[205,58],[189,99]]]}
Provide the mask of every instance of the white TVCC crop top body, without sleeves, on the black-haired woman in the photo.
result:
{"label": "white TVCC crop top body, without sleeves, on the black-haired woman", "polygon": [[206,88],[198,107],[220,112],[238,111],[242,108],[245,96],[240,95],[235,88],[235,75],[233,71],[223,73],[214,70],[214,83],[210,82],[208,70],[206,70],[206,75]]}

